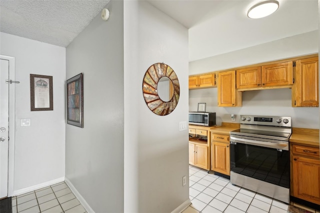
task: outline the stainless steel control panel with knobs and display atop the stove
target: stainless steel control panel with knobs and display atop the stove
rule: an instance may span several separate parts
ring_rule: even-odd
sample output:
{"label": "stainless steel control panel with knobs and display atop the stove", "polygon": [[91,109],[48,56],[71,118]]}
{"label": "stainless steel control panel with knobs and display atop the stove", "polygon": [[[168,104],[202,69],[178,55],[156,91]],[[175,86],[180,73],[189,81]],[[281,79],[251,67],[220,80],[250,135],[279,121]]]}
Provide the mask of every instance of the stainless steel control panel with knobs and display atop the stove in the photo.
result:
{"label": "stainless steel control panel with knobs and display atop the stove", "polygon": [[240,115],[240,123],[291,127],[291,117],[265,116],[265,115]]}

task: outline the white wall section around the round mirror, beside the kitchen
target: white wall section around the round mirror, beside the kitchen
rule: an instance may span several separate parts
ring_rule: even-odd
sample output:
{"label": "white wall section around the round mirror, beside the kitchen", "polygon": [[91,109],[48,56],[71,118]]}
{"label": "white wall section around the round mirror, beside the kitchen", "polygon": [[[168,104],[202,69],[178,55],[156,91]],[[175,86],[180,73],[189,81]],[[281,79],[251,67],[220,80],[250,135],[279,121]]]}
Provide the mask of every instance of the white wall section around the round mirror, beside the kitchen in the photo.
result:
{"label": "white wall section around the round mirror, beside the kitchen", "polygon": [[[188,201],[188,31],[145,1],[124,1],[124,212],[171,212]],[[159,116],[142,95],[147,68],[172,67],[177,107]]]}

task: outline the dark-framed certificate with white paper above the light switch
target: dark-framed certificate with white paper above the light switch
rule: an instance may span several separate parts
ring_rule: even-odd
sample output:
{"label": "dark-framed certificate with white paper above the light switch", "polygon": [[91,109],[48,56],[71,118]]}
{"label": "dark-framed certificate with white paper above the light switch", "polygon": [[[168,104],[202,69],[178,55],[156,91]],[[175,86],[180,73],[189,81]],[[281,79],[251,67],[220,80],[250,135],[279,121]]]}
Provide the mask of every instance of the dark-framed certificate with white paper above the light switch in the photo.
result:
{"label": "dark-framed certificate with white paper above the light switch", "polygon": [[30,74],[30,110],[53,110],[52,76]]}

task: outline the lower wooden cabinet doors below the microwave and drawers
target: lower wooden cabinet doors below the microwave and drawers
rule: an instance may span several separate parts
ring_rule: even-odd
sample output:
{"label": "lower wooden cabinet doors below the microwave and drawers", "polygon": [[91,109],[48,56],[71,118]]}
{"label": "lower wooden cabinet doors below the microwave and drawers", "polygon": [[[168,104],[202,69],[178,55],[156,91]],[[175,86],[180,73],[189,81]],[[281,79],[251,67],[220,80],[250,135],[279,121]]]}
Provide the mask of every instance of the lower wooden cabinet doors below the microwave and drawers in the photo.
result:
{"label": "lower wooden cabinet doors below the microwave and drawers", "polygon": [[189,142],[189,164],[200,168],[208,167],[208,147],[206,144],[195,144]]}

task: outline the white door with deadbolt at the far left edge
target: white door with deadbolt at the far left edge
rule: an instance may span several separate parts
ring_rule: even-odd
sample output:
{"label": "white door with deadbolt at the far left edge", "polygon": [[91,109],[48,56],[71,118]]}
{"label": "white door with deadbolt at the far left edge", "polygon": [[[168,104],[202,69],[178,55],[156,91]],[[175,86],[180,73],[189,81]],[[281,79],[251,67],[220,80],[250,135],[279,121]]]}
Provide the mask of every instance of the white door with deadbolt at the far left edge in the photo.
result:
{"label": "white door with deadbolt at the far left edge", "polygon": [[0,59],[0,198],[8,195],[9,61]]}

